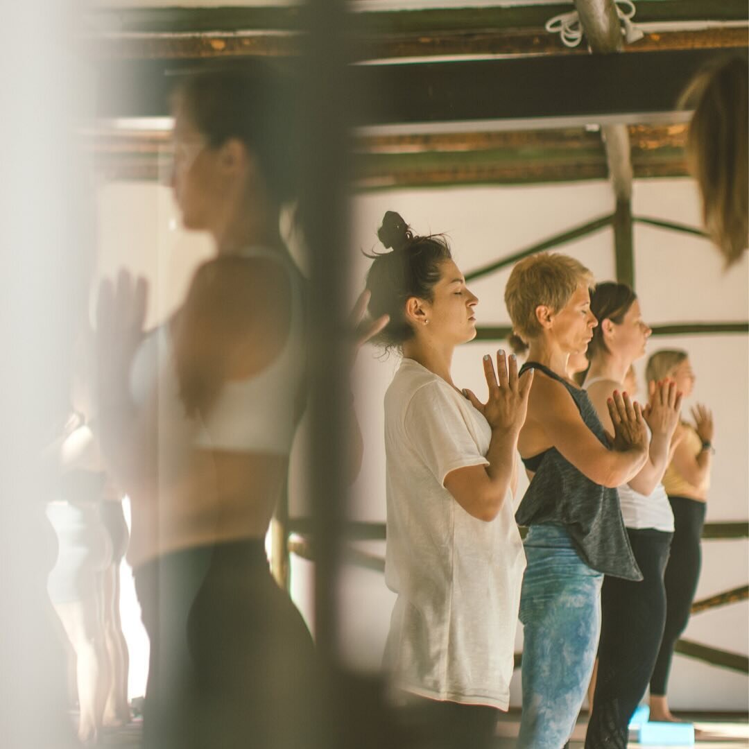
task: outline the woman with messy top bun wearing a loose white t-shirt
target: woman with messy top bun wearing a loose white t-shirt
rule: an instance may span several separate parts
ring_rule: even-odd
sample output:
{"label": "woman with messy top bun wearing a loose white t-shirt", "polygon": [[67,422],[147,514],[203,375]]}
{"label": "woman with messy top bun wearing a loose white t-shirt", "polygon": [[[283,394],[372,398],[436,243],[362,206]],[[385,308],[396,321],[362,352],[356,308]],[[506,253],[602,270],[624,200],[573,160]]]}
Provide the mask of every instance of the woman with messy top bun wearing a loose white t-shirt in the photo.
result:
{"label": "woman with messy top bun wearing a loose white t-shirt", "polygon": [[489,398],[455,385],[455,347],[476,336],[478,299],[443,237],[388,212],[392,252],[367,276],[378,337],[403,355],[385,396],[385,579],[398,595],[384,663],[429,746],[490,745],[509,704],[525,559],[512,517],[515,447],[533,373],[484,357]]}

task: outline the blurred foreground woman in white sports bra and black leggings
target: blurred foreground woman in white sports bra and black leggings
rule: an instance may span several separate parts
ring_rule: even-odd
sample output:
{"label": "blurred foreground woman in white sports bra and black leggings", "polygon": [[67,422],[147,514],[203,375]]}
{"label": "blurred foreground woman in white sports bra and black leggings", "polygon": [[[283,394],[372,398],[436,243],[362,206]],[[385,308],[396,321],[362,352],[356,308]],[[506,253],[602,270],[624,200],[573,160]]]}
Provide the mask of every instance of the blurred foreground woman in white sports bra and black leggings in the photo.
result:
{"label": "blurred foreground woman in white sports bra and black leggings", "polygon": [[312,639],[264,550],[304,389],[305,282],[279,231],[295,194],[292,103],[259,65],[184,79],[172,187],[215,256],[151,333],[143,279],[100,289],[100,434],[132,502],[151,640],[146,748],[311,740]]}

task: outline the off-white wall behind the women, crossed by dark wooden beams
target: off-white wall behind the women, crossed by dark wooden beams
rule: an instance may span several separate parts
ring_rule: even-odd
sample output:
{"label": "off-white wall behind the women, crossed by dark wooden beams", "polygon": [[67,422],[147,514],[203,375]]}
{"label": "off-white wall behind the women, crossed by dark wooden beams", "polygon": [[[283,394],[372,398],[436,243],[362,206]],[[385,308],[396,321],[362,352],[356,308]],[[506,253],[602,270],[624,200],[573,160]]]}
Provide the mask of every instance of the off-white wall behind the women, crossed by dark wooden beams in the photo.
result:
{"label": "off-white wall behind the women, crossed by dark wooden beams", "polygon": [[[449,234],[458,265],[467,271],[509,255],[539,240],[558,234],[612,210],[610,188],[604,182],[548,187],[475,187],[461,189],[393,190],[352,199],[351,252],[360,285],[369,261],[360,250],[377,246],[376,229],[385,210],[397,210],[416,231]],[[634,213],[699,225],[697,198],[691,181],[653,180],[635,185]],[[100,190],[100,269],[111,272],[121,265],[145,273],[153,288],[149,321],[155,323],[184,296],[195,264],[210,252],[207,237],[187,235],[178,227],[169,191],[153,184],[112,184]],[[651,324],[677,321],[745,321],[748,309],[748,263],[729,273],[709,244],[700,238],[638,225],[636,285],[643,312]],[[381,248],[380,248],[381,249]],[[579,258],[599,280],[612,279],[613,237],[600,231],[563,248]],[[473,285],[479,296],[480,325],[508,324],[503,303],[509,270]],[[351,298],[358,288],[351,289]],[[481,355],[497,344],[474,343],[455,356],[455,381],[478,394],[484,392]],[[748,517],[748,354],[746,336],[676,336],[653,339],[658,346],[679,346],[691,352],[697,374],[695,398],[715,411],[718,436],[715,469],[708,504],[709,521],[746,520]],[[640,374],[643,363],[640,366]],[[355,372],[357,412],[363,425],[366,455],[353,487],[351,518],[385,520],[385,484],[382,401],[397,366],[395,357],[377,358],[367,348]],[[303,435],[300,435],[303,443]],[[303,506],[303,456],[295,456],[293,500]],[[523,491],[521,487],[521,491]],[[521,494],[518,494],[518,499]],[[382,543],[361,545],[383,554]],[[745,584],[748,543],[706,542],[698,597]],[[292,560],[293,595],[312,622],[311,565]],[[393,595],[381,574],[345,568],[342,580],[342,649],[348,662],[363,670],[377,670],[389,625]],[[127,605],[135,606],[132,592]],[[133,617],[130,617],[132,620]],[[685,637],[746,654],[749,606],[733,604],[701,613],[691,621]],[[133,630],[131,648],[144,658],[142,633]],[[518,637],[518,649],[521,638]],[[519,704],[518,675],[512,685],[512,703]],[[132,694],[142,694],[139,684]],[[747,679],[697,661],[677,657],[671,698],[682,709],[745,710]]]}

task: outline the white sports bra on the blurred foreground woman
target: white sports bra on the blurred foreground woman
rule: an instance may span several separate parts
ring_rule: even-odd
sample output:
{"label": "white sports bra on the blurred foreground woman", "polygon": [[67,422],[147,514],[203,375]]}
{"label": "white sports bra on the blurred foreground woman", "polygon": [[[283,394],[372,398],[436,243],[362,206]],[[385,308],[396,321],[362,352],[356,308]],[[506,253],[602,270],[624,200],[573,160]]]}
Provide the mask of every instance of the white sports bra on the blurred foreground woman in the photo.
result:
{"label": "white sports bra on the blurred foreground woman", "polygon": [[304,376],[304,279],[288,255],[262,247],[240,252],[243,258],[268,258],[282,263],[291,282],[291,320],[286,345],[257,375],[224,384],[204,419],[190,419],[179,397],[169,323],[146,336],[130,371],[130,391],[142,404],[154,387],[159,395],[160,426],[189,426],[193,444],[203,449],[230,452],[270,452],[288,455],[299,414],[297,392]]}

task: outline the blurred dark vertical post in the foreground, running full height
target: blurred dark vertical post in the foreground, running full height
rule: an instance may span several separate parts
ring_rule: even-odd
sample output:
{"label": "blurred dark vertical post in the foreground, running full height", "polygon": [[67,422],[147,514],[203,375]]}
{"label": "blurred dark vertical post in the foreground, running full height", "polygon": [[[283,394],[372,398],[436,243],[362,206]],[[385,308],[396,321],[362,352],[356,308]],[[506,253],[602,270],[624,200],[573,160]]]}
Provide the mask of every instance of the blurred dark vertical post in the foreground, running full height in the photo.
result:
{"label": "blurred dark vertical post in the foreground, running full height", "polygon": [[348,184],[348,60],[344,0],[308,0],[301,7],[304,37],[301,138],[300,223],[309,247],[309,317],[306,336],[309,416],[312,434],[309,489],[315,533],[315,644],[318,715],[311,745],[344,749],[345,721],[339,686],[339,566],[346,476],[345,399],[348,392],[348,236],[345,185]]}

